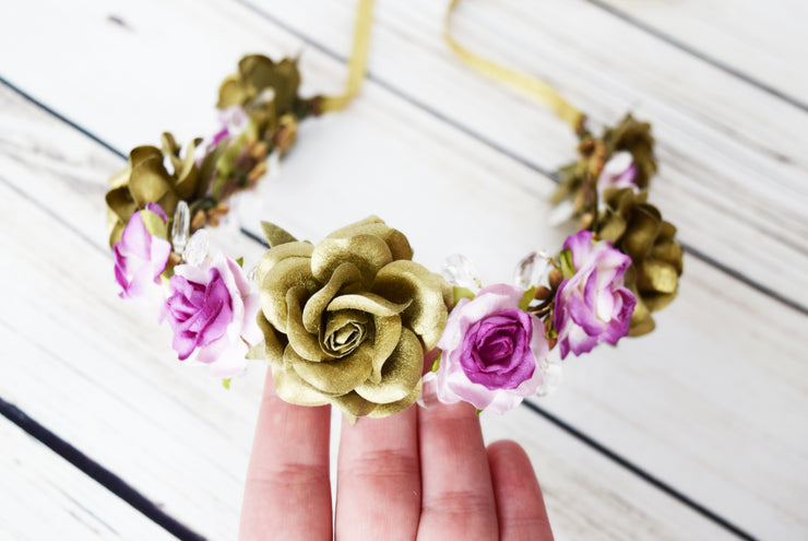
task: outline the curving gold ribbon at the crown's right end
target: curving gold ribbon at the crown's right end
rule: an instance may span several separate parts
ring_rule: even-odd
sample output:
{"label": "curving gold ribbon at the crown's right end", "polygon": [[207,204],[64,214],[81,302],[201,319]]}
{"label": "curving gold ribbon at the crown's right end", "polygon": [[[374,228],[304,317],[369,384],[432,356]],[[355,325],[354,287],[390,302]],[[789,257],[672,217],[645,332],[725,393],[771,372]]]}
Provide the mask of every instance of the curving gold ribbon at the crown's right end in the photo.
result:
{"label": "curving gold ribbon at the crown's right end", "polygon": [[572,104],[567,102],[552,86],[542,81],[538,78],[528,75],[526,73],[520,73],[519,71],[511,70],[499,66],[487,58],[484,58],[471,50],[466,49],[458,43],[450,32],[450,22],[452,12],[458,7],[461,0],[452,0],[447,10],[447,16],[443,24],[443,38],[447,40],[452,50],[463,60],[468,67],[478,73],[486,75],[489,79],[498,81],[511,89],[518,90],[537,102],[547,106],[552,110],[556,116],[567,122],[575,130],[575,133],[580,133],[583,129],[583,124],[586,119],[586,115],[578,110]]}

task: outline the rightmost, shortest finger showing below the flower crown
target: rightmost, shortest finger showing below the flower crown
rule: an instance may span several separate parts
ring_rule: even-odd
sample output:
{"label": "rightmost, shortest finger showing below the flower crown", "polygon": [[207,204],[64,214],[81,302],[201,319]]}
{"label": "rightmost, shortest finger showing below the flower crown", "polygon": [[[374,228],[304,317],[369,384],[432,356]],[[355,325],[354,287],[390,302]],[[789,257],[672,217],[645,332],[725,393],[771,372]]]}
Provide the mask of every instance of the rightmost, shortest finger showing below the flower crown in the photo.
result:
{"label": "rightmost, shortest finger showing below the flower crown", "polygon": [[536,474],[527,454],[515,442],[488,446],[499,538],[502,541],[551,541],[552,531]]}

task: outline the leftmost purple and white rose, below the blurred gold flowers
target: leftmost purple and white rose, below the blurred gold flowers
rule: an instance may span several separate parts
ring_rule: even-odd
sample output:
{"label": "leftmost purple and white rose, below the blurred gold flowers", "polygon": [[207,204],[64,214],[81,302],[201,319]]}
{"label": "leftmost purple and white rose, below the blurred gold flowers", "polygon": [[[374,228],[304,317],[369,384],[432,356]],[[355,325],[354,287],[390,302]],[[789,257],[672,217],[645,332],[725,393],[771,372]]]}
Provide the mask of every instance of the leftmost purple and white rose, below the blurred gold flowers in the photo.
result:
{"label": "leftmost purple and white rose, below the blurred gold flowers", "polygon": [[171,254],[170,243],[161,238],[166,236],[167,222],[168,216],[155,203],[147,203],[145,210],[136,211],[129,219],[121,239],[112,247],[115,279],[123,289],[121,298],[161,297],[159,275],[166,270]]}

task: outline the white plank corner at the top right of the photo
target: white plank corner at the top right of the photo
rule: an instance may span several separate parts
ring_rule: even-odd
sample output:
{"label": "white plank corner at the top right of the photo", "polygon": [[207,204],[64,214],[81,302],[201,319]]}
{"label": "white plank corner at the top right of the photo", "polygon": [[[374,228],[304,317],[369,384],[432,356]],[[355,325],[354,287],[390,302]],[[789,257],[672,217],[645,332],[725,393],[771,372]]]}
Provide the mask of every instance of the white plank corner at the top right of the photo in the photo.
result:
{"label": "white plank corner at the top right of the photo", "polygon": [[652,32],[663,33],[776,92],[808,103],[808,80],[795,69],[808,56],[808,5],[800,0],[595,3],[618,10],[620,15],[647,25]]}

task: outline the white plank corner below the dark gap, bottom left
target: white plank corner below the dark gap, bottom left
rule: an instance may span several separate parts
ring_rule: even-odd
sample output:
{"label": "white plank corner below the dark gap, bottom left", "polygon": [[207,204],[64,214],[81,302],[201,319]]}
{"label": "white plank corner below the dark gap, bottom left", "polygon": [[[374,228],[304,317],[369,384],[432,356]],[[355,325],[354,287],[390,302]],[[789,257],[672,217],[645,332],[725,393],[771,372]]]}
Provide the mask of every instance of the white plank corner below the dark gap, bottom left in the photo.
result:
{"label": "white plank corner below the dark gap, bottom left", "polygon": [[4,417],[0,440],[3,539],[174,539]]}

